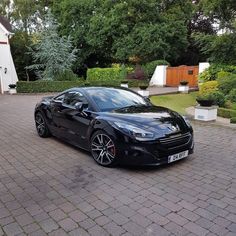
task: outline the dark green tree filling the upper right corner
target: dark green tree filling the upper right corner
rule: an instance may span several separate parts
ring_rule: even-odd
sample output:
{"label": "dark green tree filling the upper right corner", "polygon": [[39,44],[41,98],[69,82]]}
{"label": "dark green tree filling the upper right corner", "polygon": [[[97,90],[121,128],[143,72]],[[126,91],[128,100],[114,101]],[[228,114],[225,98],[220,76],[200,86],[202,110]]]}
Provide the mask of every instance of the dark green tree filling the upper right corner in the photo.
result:
{"label": "dark green tree filling the upper right corner", "polygon": [[209,61],[236,64],[236,2],[235,0],[201,0],[204,14],[212,17],[223,34],[208,32],[195,35],[196,43]]}

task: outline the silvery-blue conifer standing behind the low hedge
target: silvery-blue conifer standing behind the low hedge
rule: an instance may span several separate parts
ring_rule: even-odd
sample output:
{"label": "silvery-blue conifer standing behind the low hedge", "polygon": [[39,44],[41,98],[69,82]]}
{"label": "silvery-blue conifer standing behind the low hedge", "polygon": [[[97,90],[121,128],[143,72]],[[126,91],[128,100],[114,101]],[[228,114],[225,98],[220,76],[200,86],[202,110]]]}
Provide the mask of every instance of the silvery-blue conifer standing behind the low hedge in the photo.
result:
{"label": "silvery-blue conifer standing behind the low hedge", "polygon": [[77,49],[73,49],[70,37],[58,35],[58,23],[51,12],[43,25],[39,41],[30,50],[35,64],[27,69],[35,70],[39,78],[52,80],[60,73],[71,70]]}

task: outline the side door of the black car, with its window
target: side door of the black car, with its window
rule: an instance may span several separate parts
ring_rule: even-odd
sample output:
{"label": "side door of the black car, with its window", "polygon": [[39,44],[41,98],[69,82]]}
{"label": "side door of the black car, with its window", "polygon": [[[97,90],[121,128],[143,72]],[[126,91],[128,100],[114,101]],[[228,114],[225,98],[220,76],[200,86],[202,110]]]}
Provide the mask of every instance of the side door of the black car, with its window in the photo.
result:
{"label": "side door of the black car, with its window", "polygon": [[[77,102],[83,102],[85,108],[82,112],[75,109]],[[79,91],[69,91],[65,94],[60,109],[60,126],[64,138],[70,143],[87,147],[87,130],[89,128],[91,116],[91,106],[85,96]]]}

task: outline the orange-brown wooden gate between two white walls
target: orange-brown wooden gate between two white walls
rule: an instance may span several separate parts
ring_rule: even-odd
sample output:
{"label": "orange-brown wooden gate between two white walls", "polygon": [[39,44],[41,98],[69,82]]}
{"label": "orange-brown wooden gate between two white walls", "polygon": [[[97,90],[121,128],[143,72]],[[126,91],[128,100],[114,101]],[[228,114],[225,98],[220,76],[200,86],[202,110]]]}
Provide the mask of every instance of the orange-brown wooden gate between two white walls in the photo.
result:
{"label": "orange-brown wooden gate between two white walls", "polygon": [[167,67],[166,86],[176,87],[181,80],[187,80],[189,87],[197,87],[198,70],[198,66]]}

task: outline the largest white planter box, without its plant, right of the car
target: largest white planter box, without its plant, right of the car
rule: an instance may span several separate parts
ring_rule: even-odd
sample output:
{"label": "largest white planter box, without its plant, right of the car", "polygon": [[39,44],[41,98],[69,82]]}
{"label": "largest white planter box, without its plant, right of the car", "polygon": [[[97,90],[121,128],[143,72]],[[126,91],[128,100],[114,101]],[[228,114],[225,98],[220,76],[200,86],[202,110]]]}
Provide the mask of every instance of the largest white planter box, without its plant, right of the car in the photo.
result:
{"label": "largest white planter box, without its plant, right of the car", "polygon": [[215,121],[217,118],[217,108],[218,106],[195,106],[195,120],[201,121]]}

